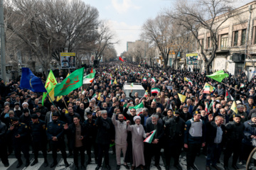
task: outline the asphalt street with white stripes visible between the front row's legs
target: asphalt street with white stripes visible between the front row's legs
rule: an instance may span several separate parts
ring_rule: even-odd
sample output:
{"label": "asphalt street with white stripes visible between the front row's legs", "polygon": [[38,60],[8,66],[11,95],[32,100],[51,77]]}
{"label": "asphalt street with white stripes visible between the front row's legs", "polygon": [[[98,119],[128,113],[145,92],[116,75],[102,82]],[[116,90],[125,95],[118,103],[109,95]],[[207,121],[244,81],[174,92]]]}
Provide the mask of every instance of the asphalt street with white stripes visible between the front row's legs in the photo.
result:
{"label": "asphalt street with white stripes visible between the front row's legs", "polygon": [[[93,157],[93,154],[92,154],[92,157]],[[32,153],[30,154],[30,158],[31,158],[31,162],[33,162],[34,158],[33,158]],[[20,168],[22,170],[25,170],[25,169],[26,170],[36,170],[36,169],[48,170],[49,169],[50,170],[51,169],[49,166],[46,167],[46,168],[43,166],[43,160],[44,159],[43,159],[43,155],[41,153],[38,156],[38,164],[36,164],[34,166],[25,167],[24,164],[25,164],[26,161],[23,157],[23,154],[22,154],[22,159],[23,159],[23,165]],[[79,157],[79,159],[80,159],[80,157]],[[122,164],[123,164],[123,159],[121,159],[121,160],[122,160]],[[232,158],[230,158],[230,169],[232,169],[231,168],[231,160],[232,160]],[[50,165],[52,163],[52,161],[53,161],[52,155],[49,152],[48,153],[48,164]],[[85,154],[85,162],[86,161],[87,161],[87,155]],[[104,165],[104,158],[103,158],[102,162],[103,162],[102,169],[106,170],[105,165]],[[68,168],[65,168],[65,164],[64,164],[63,159],[61,157],[61,153],[58,152],[58,165],[55,166],[55,168],[53,168],[53,169],[55,169],[55,170],[75,169],[75,165],[73,164],[73,156],[68,157],[68,163],[70,164],[70,166]],[[17,159],[15,158],[14,154],[11,154],[9,156],[9,164],[10,164],[9,167],[4,167],[4,164],[0,163],[0,170],[14,170],[14,169],[16,169],[16,165],[18,164],[18,162],[17,162]],[[173,164],[174,164],[173,159],[171,159],[171,169],[175,169]],[[183,169],[186,170],[186,153],[185,152],[182,152],[182,154],[181,154],[180,164],[183,167]],[[199,170],[206,169],[206,156],[201,154],[200,156],[196,157],[195,164],[196,164],[196,166],[198,167]],[[97,164],[95,164],[95,160],[92,158],[92,163],[89,164],[89,165],[85,165],[85,166],[87,167],[87,170],[94,170],[96,168]],[[111,166],[111,169],[116,169],[116,166],[117,166],[115,154],[112,154],[112,149],[110,149],[110,166]],[[163,149],[161,150],[160,166],[161,166],[162,170],[165,169],[165,157],[164,157]],[[220,167],[220,169],[223,169],[223,154],[221,155],[220,164],[218,164],[218,166]],[[245,169],[245,166],[240,165],[240,164],[238,164],[238,167],[240,169]],[[51,169],[51,170],[53,170],[53,169]],[[137,169],[139,169],[139,168],[137,168]],[[126,169],[124,168],[124,166],[121,166],[120,170],[126,170]],[[157,170],[156,167],[154,166],[154,158],[153,158],[153,161],[151,162],[151,170]]]}

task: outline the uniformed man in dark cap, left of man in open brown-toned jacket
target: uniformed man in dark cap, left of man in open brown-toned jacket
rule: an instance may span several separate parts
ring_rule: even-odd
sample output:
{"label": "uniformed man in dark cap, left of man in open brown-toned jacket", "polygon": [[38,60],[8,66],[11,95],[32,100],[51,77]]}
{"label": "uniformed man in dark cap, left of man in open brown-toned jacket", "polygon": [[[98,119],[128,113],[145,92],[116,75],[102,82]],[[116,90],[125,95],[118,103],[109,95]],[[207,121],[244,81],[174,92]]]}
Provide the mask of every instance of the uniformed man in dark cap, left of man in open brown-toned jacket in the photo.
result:
{"label": "uniformed man in dark cap, left of man in open brown-toned jacket", "polygon": [[67,153],[65,152],[64,142],[64,126],[63,121],[58,120],[58,113],[53,112],[52,122],[47,124],[46,135],[50,142],[51,150],[53,151],[53,163],[50,164],[50,168],[53,168],[58,164],[57,162],[57,149],[60,149],[62,157],[64,159],[65,167],[68,167]]}

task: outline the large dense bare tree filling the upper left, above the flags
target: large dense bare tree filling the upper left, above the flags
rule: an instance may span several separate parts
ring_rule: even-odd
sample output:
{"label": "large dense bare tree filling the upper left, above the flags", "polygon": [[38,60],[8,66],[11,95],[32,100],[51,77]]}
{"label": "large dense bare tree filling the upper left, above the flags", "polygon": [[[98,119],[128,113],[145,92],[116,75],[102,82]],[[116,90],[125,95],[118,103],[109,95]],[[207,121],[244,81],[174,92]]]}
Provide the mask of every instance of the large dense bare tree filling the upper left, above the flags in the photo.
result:
{"label": "large dense bare tree filling the upper left, above the flags", "polygon": [[80,0],[6,1],[6,27],[36,55],[48,74],[52,57],[60,61],[65,47],[78,51],[91,42],[98,11]]}

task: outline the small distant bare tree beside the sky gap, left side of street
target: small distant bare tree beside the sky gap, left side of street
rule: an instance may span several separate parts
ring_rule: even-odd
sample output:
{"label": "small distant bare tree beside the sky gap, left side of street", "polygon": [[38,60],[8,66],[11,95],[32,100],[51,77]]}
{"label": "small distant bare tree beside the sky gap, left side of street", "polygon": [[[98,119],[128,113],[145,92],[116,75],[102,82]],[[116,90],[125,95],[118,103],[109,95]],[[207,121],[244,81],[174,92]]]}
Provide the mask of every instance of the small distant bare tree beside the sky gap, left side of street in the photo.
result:
{"label": "small distant bare tree beside the sky gap, left side of street", "polygon": [[95,54],[95,60],[100,60],[105,47],[117,44],[118,40],[114,41],[115,35],[106,21],[100,21],[96,34],[95,47],[92,52]]}

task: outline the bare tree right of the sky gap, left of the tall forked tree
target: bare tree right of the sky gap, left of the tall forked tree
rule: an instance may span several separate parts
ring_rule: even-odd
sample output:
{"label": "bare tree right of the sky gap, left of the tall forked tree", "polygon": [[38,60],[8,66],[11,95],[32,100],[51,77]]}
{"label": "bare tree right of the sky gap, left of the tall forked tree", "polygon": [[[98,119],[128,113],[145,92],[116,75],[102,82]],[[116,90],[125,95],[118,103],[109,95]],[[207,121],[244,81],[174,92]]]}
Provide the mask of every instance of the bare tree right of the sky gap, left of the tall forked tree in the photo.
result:
{"label": "bare tree right of the sky gap, left of the tall forked tree", "polygon": [[171,20],[164,15],[156,16],[154,19],[148,19],[142,26],[142,38],[159,48],[161,57],[164,60],[164,67],[168,63],[169,53],[171,51],[172,38],[170,29]]}

